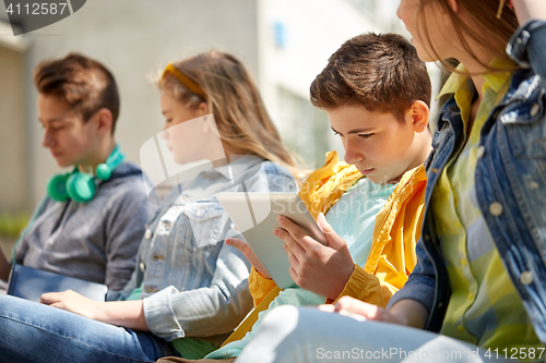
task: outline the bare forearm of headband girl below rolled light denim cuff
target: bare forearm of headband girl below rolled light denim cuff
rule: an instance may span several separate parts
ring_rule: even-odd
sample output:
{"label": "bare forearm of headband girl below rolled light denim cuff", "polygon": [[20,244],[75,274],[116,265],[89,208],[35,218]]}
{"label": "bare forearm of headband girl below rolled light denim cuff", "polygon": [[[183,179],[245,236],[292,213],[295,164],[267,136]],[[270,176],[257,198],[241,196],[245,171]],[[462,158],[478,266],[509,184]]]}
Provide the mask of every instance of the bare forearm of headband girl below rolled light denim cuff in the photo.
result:
{"label": "bare forearm of headband girl below rolled light denim cuff", "polygon": [[150,331],[144,318],[142,300],[100,303],[97,306],[94,319],[129,329]]}

